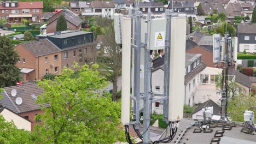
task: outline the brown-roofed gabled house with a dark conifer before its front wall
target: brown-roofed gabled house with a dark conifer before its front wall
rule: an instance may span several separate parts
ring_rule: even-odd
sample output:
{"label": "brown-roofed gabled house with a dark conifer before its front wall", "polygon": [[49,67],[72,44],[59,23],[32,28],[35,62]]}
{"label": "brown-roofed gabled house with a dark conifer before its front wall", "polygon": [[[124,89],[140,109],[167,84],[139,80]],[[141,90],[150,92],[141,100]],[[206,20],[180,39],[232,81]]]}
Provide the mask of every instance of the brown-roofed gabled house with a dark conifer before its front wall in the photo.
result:
{"label": "brown-roofed gabled house with a dark conifer before its front wall", "polygon": [[80,19],[80,17],[73,13],[71,10],[63,8],[58,13],[51,16],[48,20],[49,23],[46,26],[46,33],[53,33],[56,32],[56,25],[57,25],[57,19],[64,15],[65,19],[67,21],[67,29],[68,30],[80,30],[83,20]]}

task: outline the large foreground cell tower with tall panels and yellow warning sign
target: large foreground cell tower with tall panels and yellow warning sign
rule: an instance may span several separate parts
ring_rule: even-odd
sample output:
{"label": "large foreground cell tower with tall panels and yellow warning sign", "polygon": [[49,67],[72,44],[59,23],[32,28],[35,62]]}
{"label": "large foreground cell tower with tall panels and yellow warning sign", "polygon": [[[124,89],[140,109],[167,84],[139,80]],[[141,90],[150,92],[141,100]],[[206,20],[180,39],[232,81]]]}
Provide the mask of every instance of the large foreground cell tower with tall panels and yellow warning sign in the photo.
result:
{"label": "large foreground cell tower with tall panels and yellow warning sign", "polygon": [[[115,40],[123,46],[121,122],[125,125],[126,139],[129,143],[132,143],[129,125],[133,126],[143,143],[150,143],[150,114],[152,103],[155,101],[164,101],[164,121],[169,124],[170,135],[153,143],[172,141],[179,120],[183,118],[187,19],[177,17],[169,9],[166,9],[165,18],[152,19],[150,14],[148,11],[148,16],[143,17],[142,12],[137,9],[133,14],[130,9],[129,16],[114,14]],[[161,49],[165,51],[164,94],[155,94],[151,86],[151,56],[155,50]],[[133,102],[132,121],[130,121],[130,100]],[[141,104],[143,104],[143,131],[139,131],[138,127]]]}

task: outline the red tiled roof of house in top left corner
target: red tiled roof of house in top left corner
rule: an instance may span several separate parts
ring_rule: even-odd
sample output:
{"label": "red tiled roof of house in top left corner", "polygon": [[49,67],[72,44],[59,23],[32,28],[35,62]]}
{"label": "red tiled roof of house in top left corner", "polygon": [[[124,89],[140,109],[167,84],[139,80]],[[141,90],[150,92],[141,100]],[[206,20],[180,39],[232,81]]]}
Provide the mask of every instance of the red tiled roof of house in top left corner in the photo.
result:
{"label": "red tiled roof of house in top left corner", "polygon": [[18,7],[4,8],[3,4],[0,4],[0,9],[43,9],[43,2],[18,2]]}

